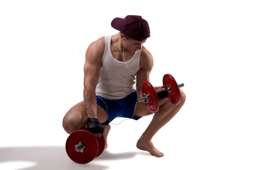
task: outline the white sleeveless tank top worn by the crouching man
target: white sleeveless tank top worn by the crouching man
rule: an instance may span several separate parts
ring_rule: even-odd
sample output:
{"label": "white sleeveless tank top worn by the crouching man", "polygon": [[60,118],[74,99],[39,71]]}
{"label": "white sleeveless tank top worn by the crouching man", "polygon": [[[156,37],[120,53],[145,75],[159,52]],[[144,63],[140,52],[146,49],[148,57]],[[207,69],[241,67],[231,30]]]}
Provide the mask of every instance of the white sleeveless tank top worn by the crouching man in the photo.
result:
{"label": "white sleeveless tank top worn by the crouching man", "polygon": [[96,95],[117,100],[132,93],[136,89],[140,52],[136,51],[129,61],[118,61],[111,52],[111,35],[105,36],[105,50],[101,59]]}

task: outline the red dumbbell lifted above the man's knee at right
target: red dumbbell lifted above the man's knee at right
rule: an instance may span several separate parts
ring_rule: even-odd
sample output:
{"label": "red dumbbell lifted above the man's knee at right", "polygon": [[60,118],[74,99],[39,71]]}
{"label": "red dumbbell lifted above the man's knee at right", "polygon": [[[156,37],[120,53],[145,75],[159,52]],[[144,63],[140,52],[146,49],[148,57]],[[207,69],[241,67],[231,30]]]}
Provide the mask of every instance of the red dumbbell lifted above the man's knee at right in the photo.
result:
{"label": "red dumbbell lifted above the man's knee at right", "polygon": [[[183,87],[184,84],[177,85],[176,80],[171,74],[165,74],[163,76],[163,86],[168,91],[168,99],[173,104],[178,104],[180,102],[180,92],[179,87]],[[148,109],[152,113],[156,113],[159,110],[158,95],[153,87],[148,81],[144,81],[141,85],[141,92],[143,97],[138,98],[138,102],[145,102]]]}

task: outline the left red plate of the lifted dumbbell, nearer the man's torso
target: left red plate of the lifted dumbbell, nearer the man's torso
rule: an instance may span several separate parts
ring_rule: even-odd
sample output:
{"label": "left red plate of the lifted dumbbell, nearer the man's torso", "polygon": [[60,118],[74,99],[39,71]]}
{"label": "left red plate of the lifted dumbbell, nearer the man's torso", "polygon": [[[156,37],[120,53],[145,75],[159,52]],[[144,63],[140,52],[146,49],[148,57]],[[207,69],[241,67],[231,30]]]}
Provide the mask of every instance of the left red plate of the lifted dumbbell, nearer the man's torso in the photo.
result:
{"label": "left red plate of the lifted dumbbell, nearer the man's torso", "polygon": [[152,113],[158,112],[159,101],[153,85],[151,85],[148,81],[144,81],[141,85],[141,91],[142,91],[142,94],[149,95],[149,101],[146,102],[148,109]]}

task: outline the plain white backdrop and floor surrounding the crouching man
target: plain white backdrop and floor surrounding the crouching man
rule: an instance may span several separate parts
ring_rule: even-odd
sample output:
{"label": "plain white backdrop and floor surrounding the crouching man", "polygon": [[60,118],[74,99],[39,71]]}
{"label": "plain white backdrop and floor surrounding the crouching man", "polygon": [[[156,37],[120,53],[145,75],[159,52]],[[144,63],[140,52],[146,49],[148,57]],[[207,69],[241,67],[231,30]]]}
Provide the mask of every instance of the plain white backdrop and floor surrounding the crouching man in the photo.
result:
{"label": "plain white backdrop and floor surrounding the crouching man", "polygon": [[[0,2],[0,170],[256,169],[254,0],[166,2]],[[82,100],[88,45],[126,15],[150,24],[151,83],[171,73],[187,101],[153,138],[164,157],[136,148],[149,116],[111,124],[108,149],[79,165],[65,153],[62,118]]]}

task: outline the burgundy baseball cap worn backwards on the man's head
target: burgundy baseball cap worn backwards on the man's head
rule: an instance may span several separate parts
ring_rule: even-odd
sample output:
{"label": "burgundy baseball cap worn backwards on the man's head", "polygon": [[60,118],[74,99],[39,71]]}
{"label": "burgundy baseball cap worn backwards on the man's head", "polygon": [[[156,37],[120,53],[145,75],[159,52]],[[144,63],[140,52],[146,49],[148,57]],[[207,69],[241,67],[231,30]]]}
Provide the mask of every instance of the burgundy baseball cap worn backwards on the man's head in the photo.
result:
{"label": "burgundy baseball cap worn backwards on the man's head", "polygon": [[111,26],[138,41],[146,40],[150,36],[148,22],[141,16],[116,17],[112,20]]}

